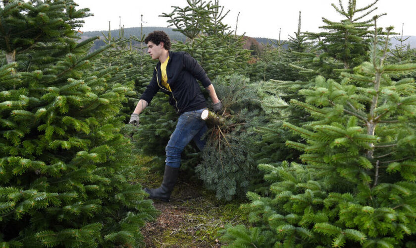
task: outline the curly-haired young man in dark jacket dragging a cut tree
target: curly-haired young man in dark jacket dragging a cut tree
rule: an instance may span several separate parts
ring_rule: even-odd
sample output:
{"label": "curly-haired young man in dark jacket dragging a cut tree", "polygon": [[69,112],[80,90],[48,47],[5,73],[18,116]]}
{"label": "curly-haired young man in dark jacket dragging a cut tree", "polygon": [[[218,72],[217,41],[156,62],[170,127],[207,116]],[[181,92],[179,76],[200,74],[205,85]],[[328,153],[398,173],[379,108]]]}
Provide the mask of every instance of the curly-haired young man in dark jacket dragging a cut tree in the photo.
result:
{"label": "curly-haired young man in dark jacket dragging a cut tree", "polygon": [[178,179],[183,149],[191,140],[195,141],[200,150],[205,145],[201,137],[207,131],[207,125],[201,119],[201,113],[207,108],[207,103],[197,79],[208,90],[213,110],[219,111],[222,104],[201,65],[185,52],[173,53],[170,51],[170,39],[165,32],[154,31],[150,33],[146,37],[145,43],[152,59],[159,60],[159,62],[156,64],[152,80],[140,97],[129,123],[139,123],[139,114],[150,104],[159,90],[169,95],[170,105],[173,105],[180,115],[178,124],[176,124],[166,146],[166,165],[162,185],[155,189],[145,188],[151,198],[169,201],[170,193]]}

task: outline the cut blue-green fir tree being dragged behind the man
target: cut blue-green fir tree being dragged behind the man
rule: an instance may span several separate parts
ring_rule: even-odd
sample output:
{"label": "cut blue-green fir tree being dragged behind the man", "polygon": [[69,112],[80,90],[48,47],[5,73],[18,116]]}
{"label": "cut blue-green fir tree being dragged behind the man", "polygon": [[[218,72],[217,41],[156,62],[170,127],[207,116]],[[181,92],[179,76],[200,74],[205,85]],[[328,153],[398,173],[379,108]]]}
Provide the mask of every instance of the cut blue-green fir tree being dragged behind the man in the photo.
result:
{"label": "cut blue-green fir tree being dragged behind the man", "polygon": [[240,75],[218,77],[215,90],[224,106],[224,123],[208,129],[203,161],[196,172],[219,199],[242,196],[259,181],[256,154],[261,152],[256,127],[286,115],[270,82],[249,83]]}

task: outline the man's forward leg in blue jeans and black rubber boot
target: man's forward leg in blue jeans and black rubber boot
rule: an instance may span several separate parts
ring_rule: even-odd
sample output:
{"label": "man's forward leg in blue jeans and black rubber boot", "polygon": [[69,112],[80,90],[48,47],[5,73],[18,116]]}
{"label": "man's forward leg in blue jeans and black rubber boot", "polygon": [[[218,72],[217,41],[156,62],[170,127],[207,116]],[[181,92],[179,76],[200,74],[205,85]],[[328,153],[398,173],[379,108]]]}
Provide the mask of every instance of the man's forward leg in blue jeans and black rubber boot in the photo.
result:
{"label": "man's forward leg in blue jeans and black rubber boot", "polygon": [[170,193],[178,179],[181,153],[195,135],[206,127],[205,121],[201,119],[201,113],[202,110],[190,111],[179,117],[178,124],[166,146],[166,166],[162,185],[155,189],[145,188],[150,198],[169,201]]}

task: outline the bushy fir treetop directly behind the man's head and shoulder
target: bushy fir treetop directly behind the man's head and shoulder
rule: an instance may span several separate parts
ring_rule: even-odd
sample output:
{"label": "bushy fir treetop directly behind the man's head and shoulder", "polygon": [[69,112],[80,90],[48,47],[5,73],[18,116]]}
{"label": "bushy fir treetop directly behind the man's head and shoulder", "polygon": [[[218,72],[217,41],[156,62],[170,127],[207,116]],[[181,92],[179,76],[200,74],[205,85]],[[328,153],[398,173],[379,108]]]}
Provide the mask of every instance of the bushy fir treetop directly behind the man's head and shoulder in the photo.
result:
{"label": "bushy fir treetop directly behind the man's head and shoulder", "polygon": [[174,26],[174,31],[187,38],[185,42],[172,44],[173,50],[189,53],[211,79],[234,71],[244,72],[250,52],[243,49],[243,37],[234,35],[230,27],[222,23],[229,10],[223,13],[224,7],[217,2],[203,0],[188,1],[184,8],[173,7],[170,14],[161,16],[169,18],[169,26]]}

